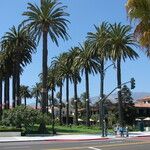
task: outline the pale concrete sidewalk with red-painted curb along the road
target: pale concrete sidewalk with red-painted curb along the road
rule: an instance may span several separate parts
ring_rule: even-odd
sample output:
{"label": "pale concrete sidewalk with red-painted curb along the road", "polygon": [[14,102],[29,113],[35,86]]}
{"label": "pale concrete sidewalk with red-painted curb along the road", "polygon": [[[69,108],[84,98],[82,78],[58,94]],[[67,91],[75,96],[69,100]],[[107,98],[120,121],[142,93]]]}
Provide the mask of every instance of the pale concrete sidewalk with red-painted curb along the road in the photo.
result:
{"label": "pale concrete sidewalk with red-painted curb along the road", "polygon": [[[146,137],[150,136],[150,132],[130,132],[128,138],[132,137]],[[54,135],[54,136],[24,136],[24,137],[0,137],[0,143],[4,142],[27,142],[27,141],[88,141],[88,140],[103,140],[120,139],[121,137],[115,137],[113,135],[107,137],[101,137],[101,135]]]}

